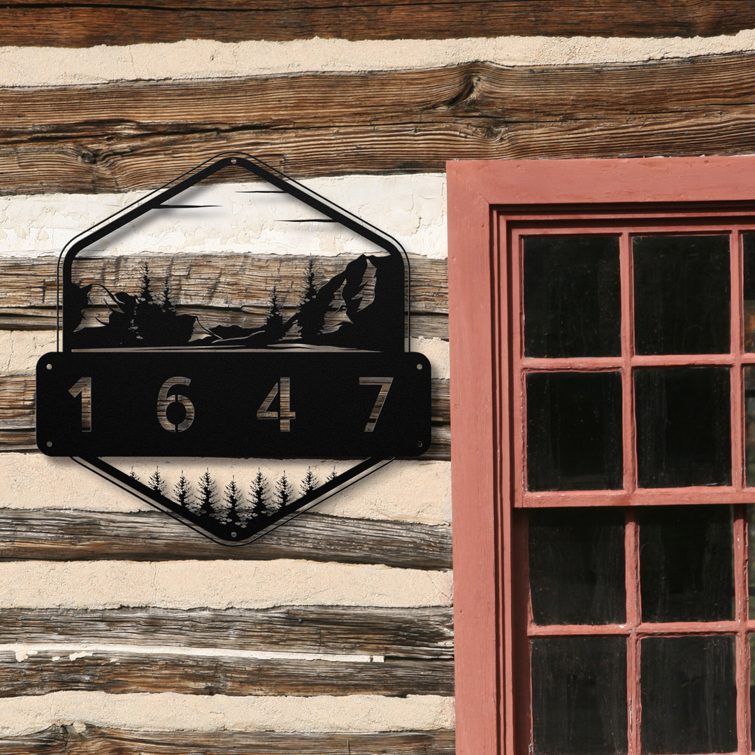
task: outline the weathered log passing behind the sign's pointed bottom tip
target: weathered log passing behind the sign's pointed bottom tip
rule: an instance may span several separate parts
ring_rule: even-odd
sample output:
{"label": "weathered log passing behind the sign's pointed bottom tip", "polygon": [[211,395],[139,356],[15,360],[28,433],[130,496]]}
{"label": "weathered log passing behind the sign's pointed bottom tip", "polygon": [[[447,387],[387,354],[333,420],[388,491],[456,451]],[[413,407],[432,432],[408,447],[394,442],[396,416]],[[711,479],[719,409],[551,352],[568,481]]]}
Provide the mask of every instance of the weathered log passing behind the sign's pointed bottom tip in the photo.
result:
{"label": "weathered log passing behind the sign's pointed bottom tip", "polygon": [[303,513],[259,541],[212,542],[161,512],[0,509],[0,561],[307,559],[451,569],[451,529]]}

